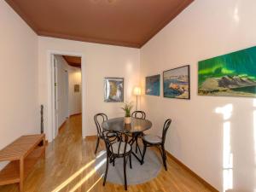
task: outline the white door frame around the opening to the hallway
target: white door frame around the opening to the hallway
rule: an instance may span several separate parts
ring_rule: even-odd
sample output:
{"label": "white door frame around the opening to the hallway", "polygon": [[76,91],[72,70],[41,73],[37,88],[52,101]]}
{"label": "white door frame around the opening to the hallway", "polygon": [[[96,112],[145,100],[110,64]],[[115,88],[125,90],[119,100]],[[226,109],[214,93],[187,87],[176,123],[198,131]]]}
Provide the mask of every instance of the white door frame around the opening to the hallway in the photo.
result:
{"label": "white door frame around the opening to the hallway", "polygon": [[46,115],[48,125],[47,131],[45,132],[48,141],[52,142],[55,137],[55,94],[54,94],[54,55],[70,55],[70,56],[79,56],[81,57],[81,76],[82,76],[82,137],[85,137],[85,61],[84,54],[79,52],[69,52],[69,51],[61,51],[61,50],[48,50],[47,51],[47,106],[46,106]]}

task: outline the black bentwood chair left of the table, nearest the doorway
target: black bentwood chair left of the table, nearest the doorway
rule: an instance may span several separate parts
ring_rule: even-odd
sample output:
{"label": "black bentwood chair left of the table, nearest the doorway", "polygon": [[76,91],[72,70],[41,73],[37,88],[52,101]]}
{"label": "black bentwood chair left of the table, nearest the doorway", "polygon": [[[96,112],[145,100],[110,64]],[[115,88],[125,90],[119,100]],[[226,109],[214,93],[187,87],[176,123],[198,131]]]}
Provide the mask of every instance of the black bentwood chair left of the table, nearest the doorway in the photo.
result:
{"label": "black bentwood chair left of the table, nearest the doorway", "polygon": [[[102,130],[102,122],[104,122],[106,120],[108,120],[108,116],[105,113],[96,113],[96,115],[94,115],[94,122],[96,124],[96,129],[97,129],[97,142],[96,142],[95,154],[97,153],[97,149],[99,147],[100,139],[104,139],[103,130]],[[116,137],[116,134],[111,133],[111,136]]]}

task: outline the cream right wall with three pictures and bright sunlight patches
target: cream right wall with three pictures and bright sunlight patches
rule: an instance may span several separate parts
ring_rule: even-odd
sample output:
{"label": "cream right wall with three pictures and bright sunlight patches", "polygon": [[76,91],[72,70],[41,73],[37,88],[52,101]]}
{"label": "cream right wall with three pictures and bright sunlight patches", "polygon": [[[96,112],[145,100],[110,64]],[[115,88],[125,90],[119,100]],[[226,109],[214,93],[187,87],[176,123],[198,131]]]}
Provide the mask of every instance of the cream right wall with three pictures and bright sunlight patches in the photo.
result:
{"label": "cream right wall with three pictures and bright sunlight patches", "polygon": [[[196,0],[141,49],[142,85],[145,76],[190,65],[190,101],[163,98],[161,87],[161,96],[143,96],[142,106],[154,132],[160,133],[164,119],[173,119],[166,149],[220,191],[232,181],[237,191],[256,189],[256,102],[197,96],[197,62],[255,45],[255,8],[255,0]],[[225,106],[231,106],[227,119],[215,112]],[[230,154],[225,154],[229,135]],[[225,177],[223,161],[231,154],[233,166]]]}

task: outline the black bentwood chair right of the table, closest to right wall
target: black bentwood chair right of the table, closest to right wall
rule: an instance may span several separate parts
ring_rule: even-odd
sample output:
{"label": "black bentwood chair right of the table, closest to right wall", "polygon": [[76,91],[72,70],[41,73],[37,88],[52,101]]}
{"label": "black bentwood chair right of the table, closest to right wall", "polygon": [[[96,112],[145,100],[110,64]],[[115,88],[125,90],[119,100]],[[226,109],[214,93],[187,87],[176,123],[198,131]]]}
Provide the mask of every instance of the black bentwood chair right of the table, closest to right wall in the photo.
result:
{"label": "black bentwood chair right of the table, closest to right wall", "polygon": [[168,131],[171,123],[172,123],[172,119],[166,119],[166,122],[163,127],[162,137],[158,137],[158,136],[154,136],[154,135],[144,135],[143,136],[144,147],[143,147],[142,164],[144,163],[144,157],[146,154],[147,147],[156,146],[160,149],[160,154],[162,156],[163,164],[167,171],[165,142],[166,142],[166,132]]}

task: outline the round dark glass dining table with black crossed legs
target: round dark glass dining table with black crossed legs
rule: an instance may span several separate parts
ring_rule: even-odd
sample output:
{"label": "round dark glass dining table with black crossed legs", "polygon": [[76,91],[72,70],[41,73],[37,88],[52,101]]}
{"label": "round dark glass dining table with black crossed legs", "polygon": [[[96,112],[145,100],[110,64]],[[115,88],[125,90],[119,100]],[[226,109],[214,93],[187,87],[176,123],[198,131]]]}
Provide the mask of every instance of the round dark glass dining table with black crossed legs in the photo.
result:
{"label": "round dark glass dining table with black crossed legs", "polygon": [[[102,129],[106,131],[117,131],[117,132],[130,132],[131,133],[131,146],[133,143],[137,143],[137,139],[141,136],[143,131],[147,131],[151,128],[152,123],[148,119],[137,119],[131,118],[131,124],[125,124],[125,118],[114,118],[108,119],[102,123]],[[140,154],[140,157],[137,156],[137,148]],[[139,162],[142,163],[142,151],[139,145],[136,146],[136,153],[131,152]]]}

